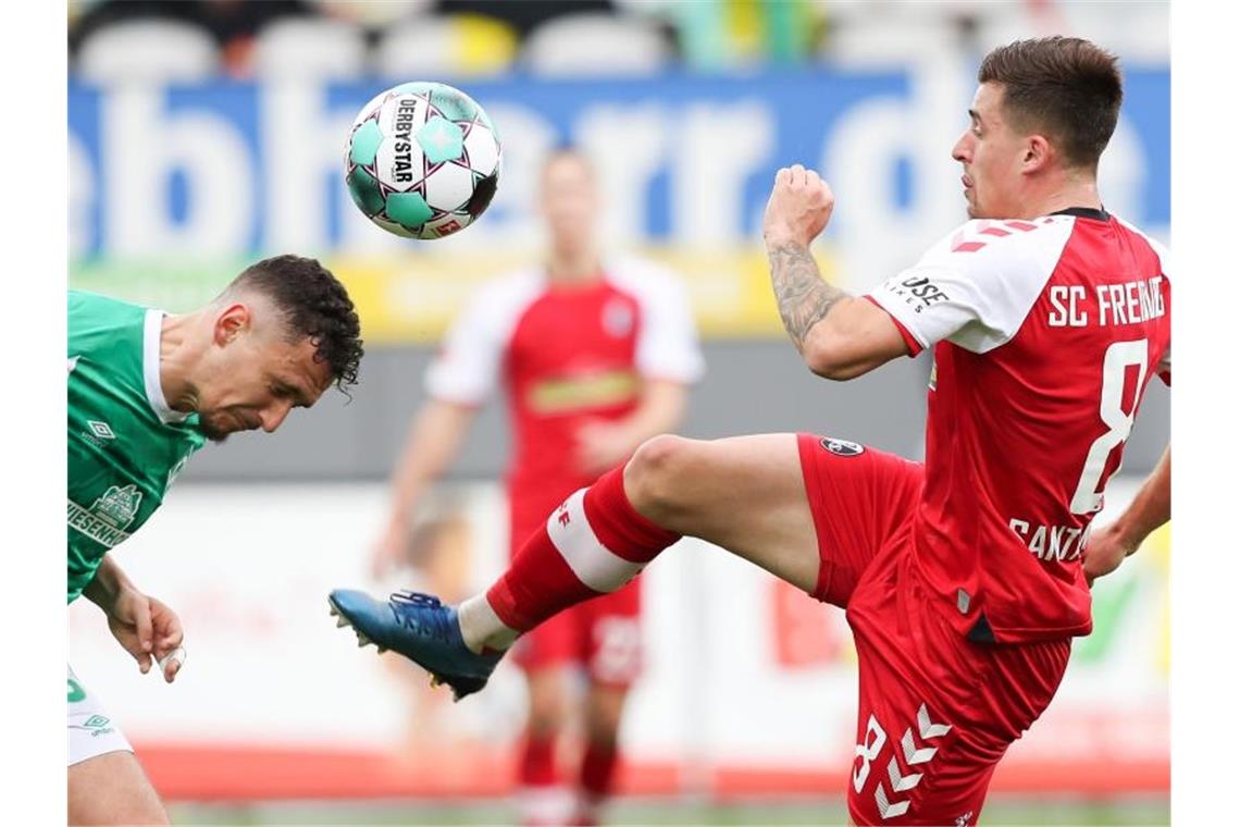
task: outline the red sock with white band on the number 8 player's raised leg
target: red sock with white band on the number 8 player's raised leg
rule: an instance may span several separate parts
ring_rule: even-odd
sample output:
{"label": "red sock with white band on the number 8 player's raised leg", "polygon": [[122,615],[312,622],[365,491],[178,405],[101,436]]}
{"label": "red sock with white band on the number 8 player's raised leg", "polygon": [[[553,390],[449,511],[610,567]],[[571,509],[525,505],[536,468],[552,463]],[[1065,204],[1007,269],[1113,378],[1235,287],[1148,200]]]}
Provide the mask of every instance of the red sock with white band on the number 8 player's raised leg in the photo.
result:
{"label": "red sock with white band on the number 8 player's raised leg", "polygon": [[486,601],[506,626],[528,631],[574,604],[615,591],[680,538],[637,513],[624,491],[624,467],[616,467],[556,510]]}

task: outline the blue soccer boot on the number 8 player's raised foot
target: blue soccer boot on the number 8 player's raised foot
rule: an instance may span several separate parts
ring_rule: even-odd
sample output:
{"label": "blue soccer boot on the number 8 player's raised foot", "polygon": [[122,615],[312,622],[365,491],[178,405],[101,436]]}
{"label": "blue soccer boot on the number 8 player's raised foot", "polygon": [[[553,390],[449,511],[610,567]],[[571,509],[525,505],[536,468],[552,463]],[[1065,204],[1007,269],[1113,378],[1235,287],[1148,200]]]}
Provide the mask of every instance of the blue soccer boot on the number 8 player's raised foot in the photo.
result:
{"label": "blue soccer boot on the number 8 player's raised foot", "polygon": [[392,650],[430,672],[432,686],[446,683],[460,701],[486,686],[503,652],[475,655],[461,639],[456,610],[429,594],[397,591],[381,603],[352,589],[327,596],[337,626],[352,626],[357,645]]}

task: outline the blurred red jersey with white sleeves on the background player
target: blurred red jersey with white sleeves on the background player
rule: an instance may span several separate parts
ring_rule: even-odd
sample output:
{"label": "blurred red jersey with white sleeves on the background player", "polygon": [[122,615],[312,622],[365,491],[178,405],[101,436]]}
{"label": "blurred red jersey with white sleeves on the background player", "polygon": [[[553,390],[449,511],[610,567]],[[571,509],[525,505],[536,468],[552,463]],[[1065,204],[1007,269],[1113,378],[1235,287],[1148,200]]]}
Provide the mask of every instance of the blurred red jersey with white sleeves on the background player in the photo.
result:
{"label": "blurred red jersey with white sleeves on the background player", "polygon": [[593,482],[573,461],[584,422],[631,413],[644,379],[691,383],[703,369],[682,284],[653,263],[625,258],[606,262],[587,285],[552,285],[531,268],[480,288],[427,372],[427,391],[481,404],[503,384],[515,449],[510,491],[559,498]]}

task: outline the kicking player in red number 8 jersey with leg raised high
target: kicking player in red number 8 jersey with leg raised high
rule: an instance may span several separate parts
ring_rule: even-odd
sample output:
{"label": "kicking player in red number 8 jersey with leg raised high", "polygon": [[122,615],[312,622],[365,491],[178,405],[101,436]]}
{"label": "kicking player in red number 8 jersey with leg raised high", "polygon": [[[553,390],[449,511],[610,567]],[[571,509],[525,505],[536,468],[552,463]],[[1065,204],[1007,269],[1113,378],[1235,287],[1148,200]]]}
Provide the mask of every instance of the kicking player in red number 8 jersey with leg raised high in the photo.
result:
{"label": "kicking player in red number 8 jersey with leg raised high", "polygon": [[[1171,371],[1168,254],[1097,192],[1116,60],[1078,38],[1021,41],[977,79],[952,149],[971,221],[911,268],[864,296],[823,281],[808,245],[835,196],[801,166],[776,175],[763,224],[784,325],[815,373],[851,379],[932,350],[925,464],[810,434],[658,436],[569,497],[486,594],[453,608],[336,591],[337,610],[467,694],[517,635],[701,537],[846,610],[852,820],[976,823],[994,766],[1090,631],[1090,521],[1146,383]],[[1090,577],[1169,518],[1163,467],[1169,455]]]}

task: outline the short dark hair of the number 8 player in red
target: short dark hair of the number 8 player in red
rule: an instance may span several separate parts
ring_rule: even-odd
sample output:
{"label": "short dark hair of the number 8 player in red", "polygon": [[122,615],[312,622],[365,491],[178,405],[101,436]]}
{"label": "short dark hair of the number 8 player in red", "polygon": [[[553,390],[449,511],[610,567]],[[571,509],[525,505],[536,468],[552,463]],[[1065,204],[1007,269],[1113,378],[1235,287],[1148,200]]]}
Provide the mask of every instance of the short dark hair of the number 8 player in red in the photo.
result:
{"label": "short dark hair of the number 8 player in red", "polygon": [[1045,131],[1069,167],[1097,169],[1123,102],[1118,58],[1080,37],[999,46],[977,69],[1003,87],[1003,110],[1018,129]]}

